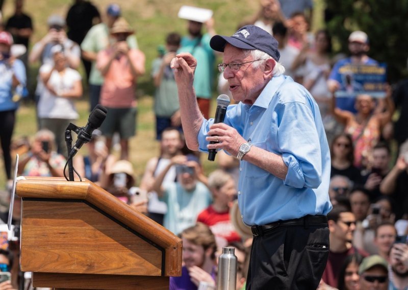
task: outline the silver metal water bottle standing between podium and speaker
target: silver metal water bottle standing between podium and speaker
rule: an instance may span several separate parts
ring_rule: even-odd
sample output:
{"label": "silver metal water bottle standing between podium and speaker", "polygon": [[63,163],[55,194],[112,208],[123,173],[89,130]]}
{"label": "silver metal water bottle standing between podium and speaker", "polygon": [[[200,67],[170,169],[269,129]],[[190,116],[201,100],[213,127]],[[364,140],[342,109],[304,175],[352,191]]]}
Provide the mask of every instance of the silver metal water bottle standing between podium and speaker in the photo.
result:
{"label": "silver metal water bottle standing between podium and speaker", "polygon": [[224,247],[218,258],[218,290],[236,290],[237,288],[237,256],[235,248]]}

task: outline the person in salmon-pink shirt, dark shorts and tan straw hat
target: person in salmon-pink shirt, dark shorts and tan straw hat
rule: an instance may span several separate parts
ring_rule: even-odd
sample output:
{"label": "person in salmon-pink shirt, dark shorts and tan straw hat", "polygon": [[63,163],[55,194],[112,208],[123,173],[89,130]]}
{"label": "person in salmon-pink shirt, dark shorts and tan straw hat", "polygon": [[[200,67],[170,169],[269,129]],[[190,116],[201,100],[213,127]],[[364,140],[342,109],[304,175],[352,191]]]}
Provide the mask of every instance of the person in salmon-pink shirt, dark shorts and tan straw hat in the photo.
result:
{"label": "person in salmon-pink shirt, dark shorts and tan straw hat", "polygon": [[99,103],[108,110],[100,130],[106,136],[109,150],[113,134],[119,133],[120,159],[128,160],[129,139],[136,133],[136,80],[144,74],[145,56],[127,45],[126,38],[133,34],[133,29],[123,18],[115,21],[110,33],[115,43],[100,51],[96,59],[96,67],[105,78]]}

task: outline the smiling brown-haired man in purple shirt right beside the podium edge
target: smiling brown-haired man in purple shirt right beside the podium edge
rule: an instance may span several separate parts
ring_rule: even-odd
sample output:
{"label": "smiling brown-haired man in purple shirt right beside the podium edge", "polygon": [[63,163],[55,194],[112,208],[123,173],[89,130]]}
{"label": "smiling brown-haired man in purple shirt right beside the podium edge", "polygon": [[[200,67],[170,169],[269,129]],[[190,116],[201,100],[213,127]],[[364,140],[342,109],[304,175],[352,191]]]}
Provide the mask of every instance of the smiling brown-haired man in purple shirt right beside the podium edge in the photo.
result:
{"label": "smiling brown-haired man in purple shirt right beside the podium edge", "polygon": [[210,228],[197,223],[181,233],[183,262],[181,277],[170,277],[170,290],[197,290],[200,283],[215,289],[217,245]]}

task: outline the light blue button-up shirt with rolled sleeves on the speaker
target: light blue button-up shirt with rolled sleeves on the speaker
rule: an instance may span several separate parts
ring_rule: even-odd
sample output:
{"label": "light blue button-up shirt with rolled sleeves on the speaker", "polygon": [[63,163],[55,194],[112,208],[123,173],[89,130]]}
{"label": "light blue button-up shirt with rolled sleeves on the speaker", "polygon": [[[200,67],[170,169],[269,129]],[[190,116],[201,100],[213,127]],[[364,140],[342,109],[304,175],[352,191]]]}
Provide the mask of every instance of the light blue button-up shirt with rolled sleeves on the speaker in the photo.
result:
{"label": "light blue button-up shirt with rolled sleeves on the speaker", "polygon": [[[197,139],[208,151],[205,120]],[[328,196],[330,152],[319,108],[311,94],[290,77],[273,77],[252,105],[230,105],[224,123],[253,146],[282,155],[288,166],[285,180],[247,161],[240,162],[238,202],[247,225],[324,214]]]}

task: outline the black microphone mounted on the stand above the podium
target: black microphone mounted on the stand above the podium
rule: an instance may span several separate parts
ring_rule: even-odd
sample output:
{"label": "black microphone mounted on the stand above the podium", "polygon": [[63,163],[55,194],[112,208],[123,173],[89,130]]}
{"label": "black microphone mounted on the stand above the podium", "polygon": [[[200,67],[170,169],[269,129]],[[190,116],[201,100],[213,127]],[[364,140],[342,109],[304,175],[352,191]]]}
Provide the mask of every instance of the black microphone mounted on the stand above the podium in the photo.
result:
{"label": "black microphone mounted on the stand above the podium", "polygon": [[72,158],[81,149],[83,144],[88,143],[92,138],[93,130],[102,125],[106,118],[107,109],[104,106],[96,105],[88,117],[88,123],[85,127],[82,127],[78,133],[78,139],[75,142],[74,147],[68,155],[68,159]]}

